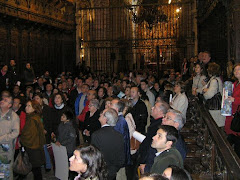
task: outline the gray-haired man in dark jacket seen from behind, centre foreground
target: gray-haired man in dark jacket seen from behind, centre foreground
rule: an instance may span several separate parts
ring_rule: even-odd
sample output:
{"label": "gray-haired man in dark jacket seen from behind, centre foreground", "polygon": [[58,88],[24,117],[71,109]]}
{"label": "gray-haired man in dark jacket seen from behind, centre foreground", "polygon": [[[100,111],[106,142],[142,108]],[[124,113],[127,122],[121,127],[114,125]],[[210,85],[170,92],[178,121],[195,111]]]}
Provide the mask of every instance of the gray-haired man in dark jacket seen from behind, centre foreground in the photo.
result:
{"label": "gray-haired man in dark jacket seen from behind, centre foreground", "polygon": [[108,169],[108,179],[113,180],[125,163],[124,140],[122,134],[114,130],[118,121],[117,112],[108,108],[99,117],[102,128],[92,134],[91,144],[103,154]]}

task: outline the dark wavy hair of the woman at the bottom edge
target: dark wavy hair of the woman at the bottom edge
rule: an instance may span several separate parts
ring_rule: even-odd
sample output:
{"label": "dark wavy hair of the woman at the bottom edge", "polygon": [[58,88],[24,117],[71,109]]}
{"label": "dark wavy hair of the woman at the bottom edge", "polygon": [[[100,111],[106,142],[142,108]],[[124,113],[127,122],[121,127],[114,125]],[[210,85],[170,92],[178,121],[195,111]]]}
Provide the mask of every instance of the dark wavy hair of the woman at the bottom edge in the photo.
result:
{"label": "dark wavy hair of the woman at the bottom edge", "polygon": [[86,146],[76,149],[80,152],[80,157],[87,165],[86,172],[82,173],[81,179],[94,179],[107,180],[106,163],[103,159],[102,153],[94,146]]}

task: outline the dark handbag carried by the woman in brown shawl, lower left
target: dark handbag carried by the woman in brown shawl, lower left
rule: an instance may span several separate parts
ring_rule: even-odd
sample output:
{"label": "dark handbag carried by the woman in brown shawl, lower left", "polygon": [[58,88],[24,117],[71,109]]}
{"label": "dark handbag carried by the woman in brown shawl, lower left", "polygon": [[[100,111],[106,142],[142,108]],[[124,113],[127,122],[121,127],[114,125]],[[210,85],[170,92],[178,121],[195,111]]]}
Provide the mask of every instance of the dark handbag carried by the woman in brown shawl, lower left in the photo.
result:
{"label": "dark handbag carried by the woman in brown shawl, lower left", "polygon": [[32,170],[32,164],[26,151],[20,150],[13,164],[13,172],[16,174],[27,175]]}

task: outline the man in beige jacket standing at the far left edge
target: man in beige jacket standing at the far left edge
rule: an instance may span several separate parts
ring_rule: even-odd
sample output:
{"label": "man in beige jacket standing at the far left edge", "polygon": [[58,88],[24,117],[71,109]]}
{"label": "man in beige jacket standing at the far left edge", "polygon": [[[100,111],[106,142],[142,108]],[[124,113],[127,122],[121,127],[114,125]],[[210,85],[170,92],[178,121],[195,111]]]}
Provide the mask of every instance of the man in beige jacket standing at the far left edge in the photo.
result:
{"label": "man in beige jacket standing at the far left edge", "polygon": [[20,122],[12,105],[12,97],[3,97],[0,101],[0,179],[13,179],[13,156]]}

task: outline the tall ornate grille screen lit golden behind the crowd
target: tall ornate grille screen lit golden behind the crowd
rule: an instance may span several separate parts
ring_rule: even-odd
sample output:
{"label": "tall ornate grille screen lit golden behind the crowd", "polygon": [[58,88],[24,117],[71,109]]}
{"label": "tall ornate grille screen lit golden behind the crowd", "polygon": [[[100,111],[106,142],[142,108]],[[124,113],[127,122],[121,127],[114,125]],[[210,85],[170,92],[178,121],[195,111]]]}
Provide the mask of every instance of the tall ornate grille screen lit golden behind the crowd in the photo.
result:
{"label": "tall ornate grille screen lit golden behind the crowd", "polygon": [[[89,1],[88,1],[89,2]],[[173,64],[194,55],[193,4],[190,1],[91,1],[76,4],[77,61],[95,72]]]}

